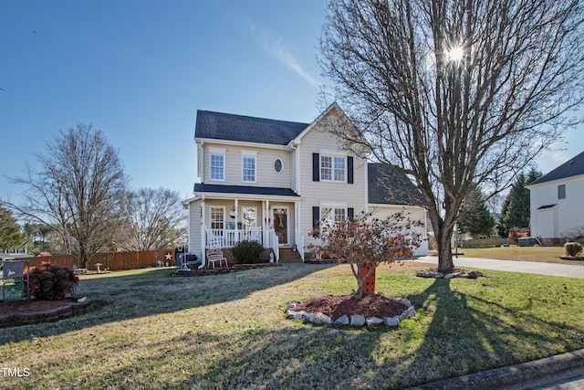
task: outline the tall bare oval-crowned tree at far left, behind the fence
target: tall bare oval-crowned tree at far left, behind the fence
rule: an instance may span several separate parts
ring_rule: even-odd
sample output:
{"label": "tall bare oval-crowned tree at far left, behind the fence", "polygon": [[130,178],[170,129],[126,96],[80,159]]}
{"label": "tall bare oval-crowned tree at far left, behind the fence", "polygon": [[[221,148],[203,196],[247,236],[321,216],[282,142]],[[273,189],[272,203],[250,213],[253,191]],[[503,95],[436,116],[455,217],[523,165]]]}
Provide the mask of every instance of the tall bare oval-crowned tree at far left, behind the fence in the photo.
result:
{"label": "tall bare oval-crowned tree at far left, behind the fence", "polygon": [[108,248],[118,223],[127,183],[118,152],[102,132],[81,123],[60,131],[36,159],[37,173],[27,167],[26,177],[11,179],[26,185],[24,204],[7,205],[52,227],[85,268],[92,254]]}

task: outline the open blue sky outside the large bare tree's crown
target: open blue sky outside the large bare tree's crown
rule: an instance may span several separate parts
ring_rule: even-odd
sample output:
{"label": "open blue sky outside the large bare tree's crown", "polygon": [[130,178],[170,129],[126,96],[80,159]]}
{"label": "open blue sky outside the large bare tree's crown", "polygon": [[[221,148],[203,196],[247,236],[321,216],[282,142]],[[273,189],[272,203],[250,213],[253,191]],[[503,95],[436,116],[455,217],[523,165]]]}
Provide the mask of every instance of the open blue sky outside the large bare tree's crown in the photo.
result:
{"label": "open blue sky outside the large bare tree's crown", "polygon": [[[16,201],[6,176],[79,122],[120,151],[133,188],[190,197],[197,110],[318,116],[325,15],[325,0],[1,1],[0,197]],[[539,169],[584,151],[581,130]]]}

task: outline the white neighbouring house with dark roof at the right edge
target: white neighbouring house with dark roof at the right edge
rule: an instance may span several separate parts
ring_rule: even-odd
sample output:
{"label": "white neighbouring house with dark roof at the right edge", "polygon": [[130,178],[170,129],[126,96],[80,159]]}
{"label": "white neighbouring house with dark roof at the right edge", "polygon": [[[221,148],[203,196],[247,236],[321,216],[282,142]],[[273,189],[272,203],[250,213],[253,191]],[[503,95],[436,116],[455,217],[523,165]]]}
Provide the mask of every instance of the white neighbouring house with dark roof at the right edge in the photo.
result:
{"label": "white neighbouring house with dark roof at the right edge", "polygon": [[531,235],[543,245],[561,244],[584,227],[584,153],[527,185]]}

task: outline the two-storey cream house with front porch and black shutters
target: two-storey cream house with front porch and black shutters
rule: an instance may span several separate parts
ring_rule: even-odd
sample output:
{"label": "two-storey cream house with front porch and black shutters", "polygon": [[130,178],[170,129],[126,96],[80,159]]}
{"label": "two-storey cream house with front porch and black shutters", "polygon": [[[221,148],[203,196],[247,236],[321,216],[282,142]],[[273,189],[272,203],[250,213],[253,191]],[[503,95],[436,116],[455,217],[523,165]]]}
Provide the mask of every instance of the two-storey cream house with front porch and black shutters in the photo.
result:
{"label": "two-storey cream house with front porch and black shutters", "polygon": [[[347,122],[333,103],[311,123],[276,121],[197,111],[198,176],[189,210],[189,252],[233,248],[255,240],[309,256],[308,235],[327,216],[343,220],[360,211],[388,216],[404,207],[422,220],[422,196],[404,174],[391,172],[343,150],[328,126]],[[382,185],[385,183],[386,185]],[[416,255],[427,254],[422,242]]]}

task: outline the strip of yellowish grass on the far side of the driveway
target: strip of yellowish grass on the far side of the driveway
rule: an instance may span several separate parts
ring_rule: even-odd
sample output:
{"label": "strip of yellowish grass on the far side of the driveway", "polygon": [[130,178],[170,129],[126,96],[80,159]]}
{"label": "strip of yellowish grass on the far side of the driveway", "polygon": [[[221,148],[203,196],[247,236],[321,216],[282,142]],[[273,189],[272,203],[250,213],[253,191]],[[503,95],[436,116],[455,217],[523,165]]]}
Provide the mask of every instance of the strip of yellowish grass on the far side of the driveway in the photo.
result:
{"label": "strip of yellowish grass on the far side of the driveway", "polygon": [[558,263],[584,265],[584,260],[563,260],[563,247],[510,247],[500,248],[459,248],[464,258],[496,258],[500,260],[539,261],[544,263]]}

